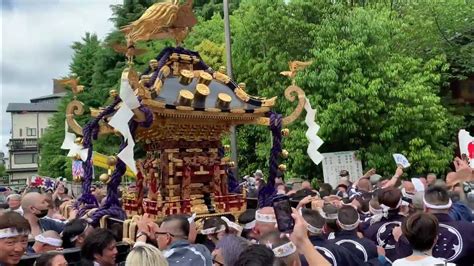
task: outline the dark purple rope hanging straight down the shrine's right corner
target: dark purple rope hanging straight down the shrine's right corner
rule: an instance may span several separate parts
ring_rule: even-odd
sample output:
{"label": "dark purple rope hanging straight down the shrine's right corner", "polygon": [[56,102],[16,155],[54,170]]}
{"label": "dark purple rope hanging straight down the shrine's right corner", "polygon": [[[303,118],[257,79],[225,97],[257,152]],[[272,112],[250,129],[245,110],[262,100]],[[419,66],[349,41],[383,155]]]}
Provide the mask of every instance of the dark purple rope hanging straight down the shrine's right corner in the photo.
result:
{"label": "dark purple rope hanging straight down the shrine's right corner", "polygon": [[270,154],[270,175],[267,184],[258,192],[258,208],[271,206],[272,198],[276,193],[275,178],[278,175],[278,158],[281,153],[282,115],[270,112],[270,131],[273,137],[273,146]]}

